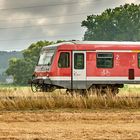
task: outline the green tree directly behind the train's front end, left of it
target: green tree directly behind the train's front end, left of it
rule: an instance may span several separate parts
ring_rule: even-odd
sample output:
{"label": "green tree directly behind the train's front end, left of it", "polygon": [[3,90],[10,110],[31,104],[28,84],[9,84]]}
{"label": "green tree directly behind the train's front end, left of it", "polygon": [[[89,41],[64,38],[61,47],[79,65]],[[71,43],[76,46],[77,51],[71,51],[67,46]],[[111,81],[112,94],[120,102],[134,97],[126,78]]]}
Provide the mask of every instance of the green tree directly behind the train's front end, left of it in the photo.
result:
{"label": "green tree directly behind the train's front end, left of it", "polygon": [[23,59],[12,58],[9,61],[9,68],[6,70],[7,75],[14,77],[15,84],[26,85],[32,77],[41,48],[51,44],[54,44],[54,42],[38,41],[31,44],[28,49],[23,50]]}

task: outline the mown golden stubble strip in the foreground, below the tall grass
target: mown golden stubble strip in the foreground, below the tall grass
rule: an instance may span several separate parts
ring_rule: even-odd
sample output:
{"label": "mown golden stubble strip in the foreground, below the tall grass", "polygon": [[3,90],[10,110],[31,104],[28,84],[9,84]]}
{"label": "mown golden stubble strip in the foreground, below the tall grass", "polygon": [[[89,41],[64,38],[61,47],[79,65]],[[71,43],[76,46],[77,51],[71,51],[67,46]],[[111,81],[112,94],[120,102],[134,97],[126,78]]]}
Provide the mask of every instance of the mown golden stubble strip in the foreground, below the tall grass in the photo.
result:
{"label": "mown golden stubble strip in the foreground, below the tall grass", "polygon": [[140,112],[1,112],[0,139],[140,139]]}

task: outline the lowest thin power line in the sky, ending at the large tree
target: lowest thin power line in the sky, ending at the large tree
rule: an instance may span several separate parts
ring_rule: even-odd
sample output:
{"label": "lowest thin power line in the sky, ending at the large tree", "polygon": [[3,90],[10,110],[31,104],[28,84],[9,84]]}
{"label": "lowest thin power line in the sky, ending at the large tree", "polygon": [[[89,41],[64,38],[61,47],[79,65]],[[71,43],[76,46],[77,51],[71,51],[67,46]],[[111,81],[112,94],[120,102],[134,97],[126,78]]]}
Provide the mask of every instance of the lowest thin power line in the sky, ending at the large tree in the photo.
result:
{"label": "lowest thin power line in the sky, ending at the large tree", "polygon": [[[0,39],[0,41],[18,41],[18,40],[34,40],[34,39],[42,39],[42,38],[57,38],[57,37],[73,37],[73,36],[81,36],[83,34],[65,34],[65,35],[55,35],[55,36],[43,36],[43,37],[33,37],[33,38],[14,38],[14,39]],[[75,38],[74,38],[75,39]]]}

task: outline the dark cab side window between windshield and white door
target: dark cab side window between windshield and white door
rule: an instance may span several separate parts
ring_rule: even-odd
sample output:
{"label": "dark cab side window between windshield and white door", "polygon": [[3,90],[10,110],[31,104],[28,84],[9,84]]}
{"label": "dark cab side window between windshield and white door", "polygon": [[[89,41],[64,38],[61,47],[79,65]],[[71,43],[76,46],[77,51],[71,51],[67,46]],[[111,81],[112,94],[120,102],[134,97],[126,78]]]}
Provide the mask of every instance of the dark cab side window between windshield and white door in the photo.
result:
{"label": "dark cab side window between windshield and white door", "polygon": [[70,67],[70,54],[68,52],[61,52],[58,60],[59,68],[69,68]]}

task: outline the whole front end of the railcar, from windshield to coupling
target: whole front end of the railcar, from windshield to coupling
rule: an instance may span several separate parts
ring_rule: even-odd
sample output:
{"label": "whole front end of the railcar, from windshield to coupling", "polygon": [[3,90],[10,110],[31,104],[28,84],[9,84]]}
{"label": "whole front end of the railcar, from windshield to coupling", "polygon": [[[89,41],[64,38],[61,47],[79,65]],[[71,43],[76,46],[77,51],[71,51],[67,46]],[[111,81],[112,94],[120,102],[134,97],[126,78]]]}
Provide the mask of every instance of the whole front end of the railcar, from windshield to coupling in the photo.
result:
{"label": "whole front end of the railcar, from windshield to coupling", "polygon": [[35,67],[35,71],[30,82],[32,91],[51,92],[55,89],[49,76],[51,74],[51,67],[56,55],[56,50],[57,46],[53,45],[42,48],[37,66]]}

